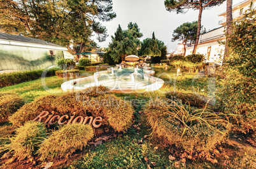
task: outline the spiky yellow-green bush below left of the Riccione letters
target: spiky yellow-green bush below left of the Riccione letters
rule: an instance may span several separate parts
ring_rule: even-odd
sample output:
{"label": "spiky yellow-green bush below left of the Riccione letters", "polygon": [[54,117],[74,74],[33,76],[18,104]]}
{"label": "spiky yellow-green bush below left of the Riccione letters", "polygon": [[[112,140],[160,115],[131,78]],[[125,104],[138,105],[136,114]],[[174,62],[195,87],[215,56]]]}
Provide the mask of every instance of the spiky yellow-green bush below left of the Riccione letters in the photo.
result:
{"label": "spiky yellow-green bush below left of the Riccione letters", "polygon": [[14,156],[20,159],[34,156],[38,145],[46,138],[45,126],[34,121],[25,123],[24,126],[15,129],[15,132],[15,136],[10,138],[10,144],[4,147],[14,151]]}

